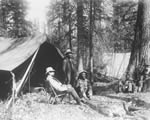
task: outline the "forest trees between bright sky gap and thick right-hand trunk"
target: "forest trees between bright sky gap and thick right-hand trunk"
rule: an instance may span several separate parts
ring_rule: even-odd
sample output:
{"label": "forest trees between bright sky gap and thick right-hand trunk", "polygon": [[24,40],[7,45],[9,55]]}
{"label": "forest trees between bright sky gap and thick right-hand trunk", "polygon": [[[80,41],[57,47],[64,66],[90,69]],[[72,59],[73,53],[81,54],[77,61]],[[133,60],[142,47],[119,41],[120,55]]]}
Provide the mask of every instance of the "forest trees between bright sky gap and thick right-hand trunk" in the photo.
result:
{"label": "forest trees between bright sky gap and thick right-hand trunk", "polygon": [[103,53],[131,51],[136,14],[137,2],[132,1],[60,0],[49,7],[49,37],[63,52],[70,47],[76,53],[77,67],[82,61],[91,70],[93,57],[93,70],[101,70]]}

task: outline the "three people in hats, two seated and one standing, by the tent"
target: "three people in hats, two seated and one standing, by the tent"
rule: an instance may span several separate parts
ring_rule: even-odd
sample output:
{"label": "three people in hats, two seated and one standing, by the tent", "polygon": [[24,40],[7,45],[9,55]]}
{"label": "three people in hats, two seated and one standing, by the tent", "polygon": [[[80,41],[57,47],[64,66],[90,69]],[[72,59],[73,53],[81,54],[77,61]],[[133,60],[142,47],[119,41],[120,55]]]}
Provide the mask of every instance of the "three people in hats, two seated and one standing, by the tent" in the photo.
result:
{"label": "three people in hats, two seated and one standing, by the tent", "polygon": [[57,80],[55,75],[55,70],[52,67],[46,68],[46,85],[55,86],[55,89],[60,92],[67,92],[72,95],[76,100],[77,104],[85,102],[90,99],[89,87],[90,81],[87,79],[87,71],[83,70],[79,73],[76,79],[76,70],[72,60],[72,51],[67,49],[65,53],[65,58],[63,61],[63,71],[65,73],[65,82],[61,83]]}

